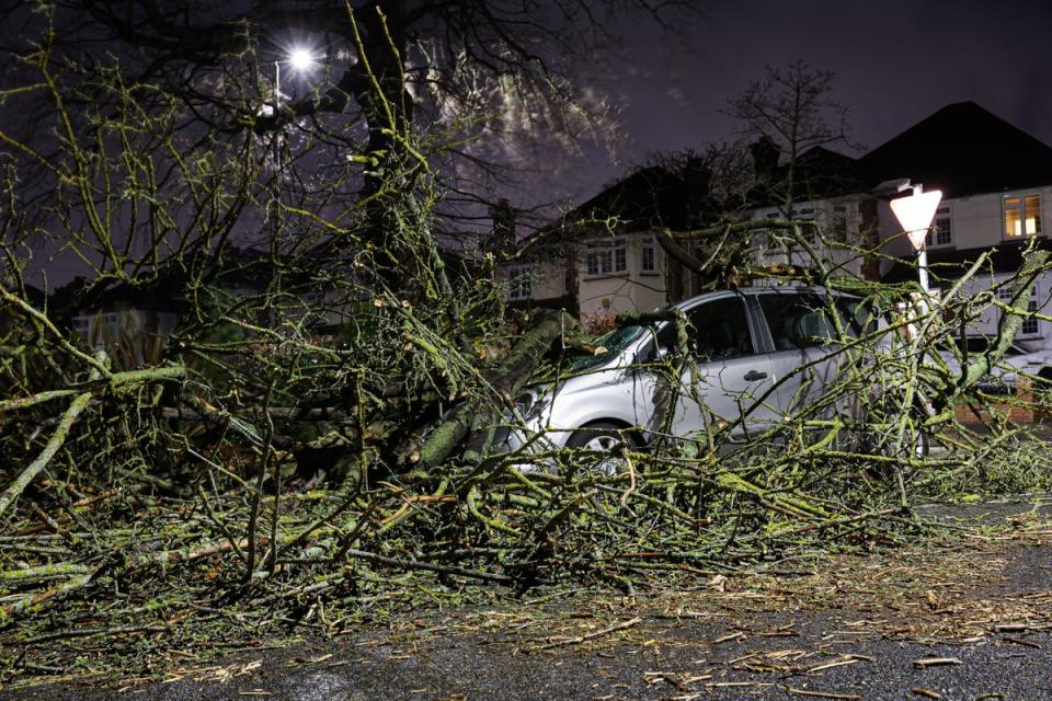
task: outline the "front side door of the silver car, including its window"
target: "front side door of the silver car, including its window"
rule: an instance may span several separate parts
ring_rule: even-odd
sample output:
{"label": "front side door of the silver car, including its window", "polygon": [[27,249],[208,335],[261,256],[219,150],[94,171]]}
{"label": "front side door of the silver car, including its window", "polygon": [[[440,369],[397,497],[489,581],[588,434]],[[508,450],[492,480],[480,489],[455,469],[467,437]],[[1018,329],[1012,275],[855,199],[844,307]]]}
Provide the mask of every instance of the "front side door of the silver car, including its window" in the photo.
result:
{"label": "front side door of the silver car, including its window", "polygon": [[[776,421],[778,407],[765,398],[773,366],[769,356],[759,353],[762,346],[742,296],[728,292],[707,298],[684,311],[689,322],[689,359],[683,364],[670,433],[689,437],[704,435],[709,426],[729,425],[732,434],[743,434]],[[662,354],[676,353],[674,324],[659,332],[658,346]],[[641,388],[652,393],[641,398],[653,412],[648,427],[662,432],[668,403],[661,393],[668,392],[668,382],[652,379]]]}

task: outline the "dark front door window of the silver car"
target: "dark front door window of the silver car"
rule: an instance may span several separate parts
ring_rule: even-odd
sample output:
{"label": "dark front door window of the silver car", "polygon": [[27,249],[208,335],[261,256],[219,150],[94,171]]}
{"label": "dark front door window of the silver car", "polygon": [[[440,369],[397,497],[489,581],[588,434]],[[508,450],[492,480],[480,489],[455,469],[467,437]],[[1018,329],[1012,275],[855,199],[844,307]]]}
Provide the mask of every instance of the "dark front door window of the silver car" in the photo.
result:
{"label": "dark front door window of the silver car", "polygon": [[[756,352],[748,330],[745,304],[740,297],[704,302],[687,311],[690,323],[688,345],[699,360],[725,360]],[[675,349],[676,325],[668,323],[658,334],[658,343]]]}

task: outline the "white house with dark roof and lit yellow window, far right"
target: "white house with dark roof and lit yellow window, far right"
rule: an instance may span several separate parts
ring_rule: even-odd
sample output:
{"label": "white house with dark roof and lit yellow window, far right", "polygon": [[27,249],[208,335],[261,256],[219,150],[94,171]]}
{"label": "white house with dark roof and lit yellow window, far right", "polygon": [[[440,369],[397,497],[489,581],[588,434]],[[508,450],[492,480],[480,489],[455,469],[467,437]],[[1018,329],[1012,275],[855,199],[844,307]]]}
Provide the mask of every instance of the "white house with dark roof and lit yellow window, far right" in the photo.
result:
{"label": "white house with dark roof and lit yellow window, far right", "polygon": [[[971,265],[986,255],[962,294],[995,290],[1011,299],[1008,283],[1019,271],[1028,246],[1052,248],[1045,219],[1052,206],[1052,147],[972,102],[947,105],[873,149],[859,164],[870,182],[908,177],[925,189],[942,191],[928,233],[928,269],[933,288],[949,289]],[[882,278],[916,279],[916,254],[887,202],[879,206],[883,251],[893,256]],[[1039,276],[1030,309],[1052,311],[1052,276]],[[991,334],[1000,311],[987,306],[969,333]],[[1030,349],[1052,349],[1052,325],[1032,317],[1017,338]]]}

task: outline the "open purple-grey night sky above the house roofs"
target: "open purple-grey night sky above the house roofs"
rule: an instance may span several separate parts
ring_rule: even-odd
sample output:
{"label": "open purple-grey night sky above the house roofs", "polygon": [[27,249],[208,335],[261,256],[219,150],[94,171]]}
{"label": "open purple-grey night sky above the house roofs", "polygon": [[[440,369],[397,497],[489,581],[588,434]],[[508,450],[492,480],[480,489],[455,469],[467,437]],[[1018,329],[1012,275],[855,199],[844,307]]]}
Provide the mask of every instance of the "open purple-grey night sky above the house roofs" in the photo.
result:
{"label": "open purple-grey night sky above the house roofs", "polygon": [[803,59],[837,73],[867,148],[952,102],[971,100],[1052,143],[1052,1],[732,0],[706,3],[685,46],[626,32],[620,81],[629,137],[620,163],[595,158],[574,176],[594,194],[648,152],[727,139],[719,113],[767,66]]}

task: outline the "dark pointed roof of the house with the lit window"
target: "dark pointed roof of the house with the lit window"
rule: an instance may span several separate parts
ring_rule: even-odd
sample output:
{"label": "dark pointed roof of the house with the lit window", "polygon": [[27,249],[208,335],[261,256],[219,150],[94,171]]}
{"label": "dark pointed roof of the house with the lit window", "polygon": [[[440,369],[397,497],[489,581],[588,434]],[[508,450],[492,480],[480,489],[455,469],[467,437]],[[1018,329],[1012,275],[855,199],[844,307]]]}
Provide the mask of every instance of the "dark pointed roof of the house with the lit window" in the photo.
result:
{"label": "dark pointed roof of the house with the lit window", "polygon": [[974,102],[942,107],[858,163],[870,187],[908,177],[947,197],[1052,184],[1052,147]]}

